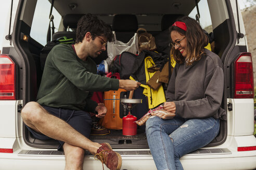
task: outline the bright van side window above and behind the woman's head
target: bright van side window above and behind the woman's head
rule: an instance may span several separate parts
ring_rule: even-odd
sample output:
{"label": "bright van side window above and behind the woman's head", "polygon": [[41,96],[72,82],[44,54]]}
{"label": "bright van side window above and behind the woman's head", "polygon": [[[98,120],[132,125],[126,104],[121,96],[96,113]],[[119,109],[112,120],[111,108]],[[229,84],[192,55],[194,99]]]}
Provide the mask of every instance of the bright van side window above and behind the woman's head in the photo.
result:
{"label": "bright van side window above and behind the woman's head", "polygon": [[[201,0],[198,3],[198,9],[200,13],[200,25],[202,29],[206,30],[208,33],[212,32],[212,20],[211,20],[211,15],[208,7],[207,0]],[[197,7],[189,13],[189,17],[196,19],[197,15]]]}

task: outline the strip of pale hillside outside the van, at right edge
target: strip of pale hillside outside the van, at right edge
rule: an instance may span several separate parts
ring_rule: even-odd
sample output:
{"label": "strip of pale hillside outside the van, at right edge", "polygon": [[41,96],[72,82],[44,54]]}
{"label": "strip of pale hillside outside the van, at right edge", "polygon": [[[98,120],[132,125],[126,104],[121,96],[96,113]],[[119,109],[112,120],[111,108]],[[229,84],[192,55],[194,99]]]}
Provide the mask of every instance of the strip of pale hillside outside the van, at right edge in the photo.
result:
{"label": "strip of pale hillside outside the van, at right edge", "polygon": [[248,50],[252,55],[254,86],[256,86],[256,5],[242,10]]}

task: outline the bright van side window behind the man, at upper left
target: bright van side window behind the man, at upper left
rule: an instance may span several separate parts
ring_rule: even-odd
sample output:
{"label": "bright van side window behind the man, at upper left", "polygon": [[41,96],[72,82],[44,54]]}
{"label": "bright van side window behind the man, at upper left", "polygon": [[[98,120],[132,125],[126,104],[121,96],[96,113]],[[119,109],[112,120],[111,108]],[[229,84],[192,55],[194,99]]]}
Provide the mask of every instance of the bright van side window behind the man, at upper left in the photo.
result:
{"label": "bright van side window behind the man, at upper left", "polygon": [[[46,45],[46,37],[49,26],[50,3],[48,0],[38,0],[35,7],[34,18],[31,25],[30,36],[37,42]],[[61,15],[53,8],[55,32],[58,30]]]}

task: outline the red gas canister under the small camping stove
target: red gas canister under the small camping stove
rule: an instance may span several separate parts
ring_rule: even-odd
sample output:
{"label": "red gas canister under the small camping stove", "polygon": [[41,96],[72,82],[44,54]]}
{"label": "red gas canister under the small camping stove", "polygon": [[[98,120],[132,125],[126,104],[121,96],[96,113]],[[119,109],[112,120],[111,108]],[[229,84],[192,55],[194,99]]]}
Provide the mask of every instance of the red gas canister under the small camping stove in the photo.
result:
{"label": "red gas canister under the small camping stove", "polygon": [[133,115],[127,115],[123,117],[123,135],[133,136],[137,134],[137,124],[135,121],[137,118]]}

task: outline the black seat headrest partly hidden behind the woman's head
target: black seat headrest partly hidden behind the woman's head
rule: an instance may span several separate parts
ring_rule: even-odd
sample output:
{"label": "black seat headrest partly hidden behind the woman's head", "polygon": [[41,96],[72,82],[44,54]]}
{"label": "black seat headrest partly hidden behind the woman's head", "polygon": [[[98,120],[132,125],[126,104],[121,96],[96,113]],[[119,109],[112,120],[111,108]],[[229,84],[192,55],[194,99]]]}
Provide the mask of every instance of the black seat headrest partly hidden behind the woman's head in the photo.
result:
{"label": "black seat headrest partly hidden behind the woman's head", "polygon": [[163,15],[161,21],[161,30],[167,30],[178,19],[184,17],[182,14],[166,14]]}

